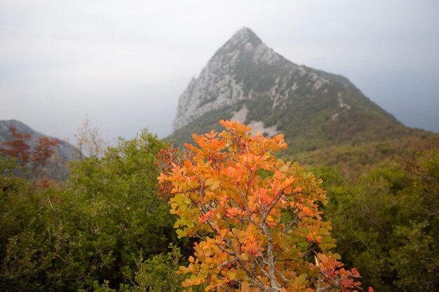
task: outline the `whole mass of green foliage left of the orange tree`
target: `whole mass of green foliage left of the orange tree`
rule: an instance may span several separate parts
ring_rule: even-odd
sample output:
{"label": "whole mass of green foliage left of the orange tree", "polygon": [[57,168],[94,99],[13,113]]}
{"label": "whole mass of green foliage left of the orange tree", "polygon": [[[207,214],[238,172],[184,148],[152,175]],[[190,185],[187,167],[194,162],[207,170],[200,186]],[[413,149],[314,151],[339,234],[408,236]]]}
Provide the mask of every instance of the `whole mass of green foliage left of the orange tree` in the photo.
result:
{"label": "whole mass of green foliage left of the orange tree", "polygon": [[140,250],[149,258],[177,242],[157,197],[156,154],[166,145],[146,131],[121,139],[103,158],[74,163],[64,190],[1,177],[0,291],[133,286]]}

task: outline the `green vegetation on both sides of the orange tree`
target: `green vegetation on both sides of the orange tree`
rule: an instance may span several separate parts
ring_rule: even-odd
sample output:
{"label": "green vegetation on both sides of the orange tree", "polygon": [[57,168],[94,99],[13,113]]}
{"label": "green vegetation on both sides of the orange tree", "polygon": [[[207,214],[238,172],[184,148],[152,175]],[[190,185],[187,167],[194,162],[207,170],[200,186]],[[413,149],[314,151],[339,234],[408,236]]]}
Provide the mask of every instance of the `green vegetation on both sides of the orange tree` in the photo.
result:
{"label": "green vegetation on both sides of the orange tree", "polygon": [[[0,291],[183,291],[175,271],[191,264],[193,241],[177,238],[176,218],[157,195],[159,169],[167,171],[157,153],[167,146],[147,132],[121,139],[102,158],[75,162],[61,189],[35,188],[18,176],[17,160],[1,158]],[[303,154],[311,161],[323,153],[327,163],[313,172],[329,197],[323,216],[335,251],[363,287],[437,291],[437,149],[400,159],[382,144],[356,149]],[[161,157],[190,159],[172,153]],[[362,174],[346,175],[343,167],[356,165]]]}

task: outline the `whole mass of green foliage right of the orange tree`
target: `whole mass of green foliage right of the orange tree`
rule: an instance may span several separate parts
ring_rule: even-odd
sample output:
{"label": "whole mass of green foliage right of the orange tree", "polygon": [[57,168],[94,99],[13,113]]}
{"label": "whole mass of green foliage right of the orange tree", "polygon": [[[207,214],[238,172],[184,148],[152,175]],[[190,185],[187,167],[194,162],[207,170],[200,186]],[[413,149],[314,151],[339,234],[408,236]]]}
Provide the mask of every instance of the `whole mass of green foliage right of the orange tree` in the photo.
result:
{"label": "whole mass of green foliage right of the orange tree", "polygon": [[438,151],[427,151],[327,186],[337,251],[377,291],[437,291],[438,169]]}

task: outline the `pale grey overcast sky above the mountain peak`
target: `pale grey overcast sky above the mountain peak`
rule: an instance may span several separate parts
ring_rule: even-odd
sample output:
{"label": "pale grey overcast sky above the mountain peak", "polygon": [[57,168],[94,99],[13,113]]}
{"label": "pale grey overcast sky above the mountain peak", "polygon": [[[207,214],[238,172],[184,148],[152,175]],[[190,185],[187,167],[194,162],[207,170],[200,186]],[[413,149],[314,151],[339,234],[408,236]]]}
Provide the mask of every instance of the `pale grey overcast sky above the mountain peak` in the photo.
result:
{"label": "pale grey overcast sky above the mountain peak", "polygon": [[109,141],[166,137],[191,77],[241,27],[439,132],[437,0],[0,0],[0,120],[66,138],[88,114]]}

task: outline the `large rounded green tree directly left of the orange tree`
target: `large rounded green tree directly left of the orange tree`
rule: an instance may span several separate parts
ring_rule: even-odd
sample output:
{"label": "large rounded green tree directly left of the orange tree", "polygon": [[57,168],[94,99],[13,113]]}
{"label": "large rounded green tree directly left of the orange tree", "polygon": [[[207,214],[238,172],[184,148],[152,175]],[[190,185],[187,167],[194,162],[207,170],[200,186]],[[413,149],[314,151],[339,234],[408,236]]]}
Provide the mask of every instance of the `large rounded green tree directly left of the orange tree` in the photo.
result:
{"label": "large rounded green tree directly left of the orange tree", "polygon": [[149,257],[176,239],[168,204],[157,197],[156,155],[166,146],[144,130],[135,139],[119,139],[102,158],[72,164],[65,200],[74,207],[66,221],[77,249],[60,256],[83,264],[83,286],[76,288],[104,279],[112,288],[129,284],[141,249]]}

